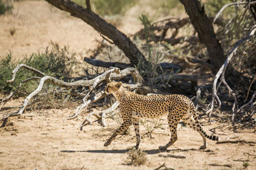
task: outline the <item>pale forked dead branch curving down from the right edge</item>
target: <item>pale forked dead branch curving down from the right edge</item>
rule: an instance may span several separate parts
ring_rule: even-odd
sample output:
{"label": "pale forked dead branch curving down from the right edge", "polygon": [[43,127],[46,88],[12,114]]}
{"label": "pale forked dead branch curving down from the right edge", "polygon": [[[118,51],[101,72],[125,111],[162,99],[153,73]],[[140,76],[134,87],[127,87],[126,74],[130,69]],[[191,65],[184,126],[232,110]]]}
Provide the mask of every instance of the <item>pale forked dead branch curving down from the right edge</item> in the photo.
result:
{"label": "pale forked dead branch curving down from the right edge", "polygon": [[[248,36],[246,36],[245,38],[239,40],[236,42],[236,44],[234,45],[234,47],[232,48],[232,50],[230,51],[230,53],[228,54],[227,59],[225,60],[224,64],[221,66],[220,70],[218,71],[218,73],[216,74],[216,76],[214,77],[214,81],[213,81],[213,86],[212,86],[212,102],[210,103],[211,108],[206,112],[208,114],[209,117],[209,122],[211,122],[211,114],[213,111],[213,107],[214,107],[214,101],[218,101],[218,108],[221,107],[221,101],[217,95],[218,92],[218,88],[220,87],[221,83],[223,83],[225,85],[225,87],[227,87],[228,92],[232,95],[232,97],[234,98],[234,104],[232,107],[232,121],[234,122],[234,117],[236,117],[236,113],[237,113],[237,108],[238,108],[238,104],[237,104],[237,97],[236,94],[234,94],[233,90],[228,86],[227,82],[225,81],[225,71],[227,69],[227,66],[230,62],[230,60],[232,59],[232,57],[234,56],[234,53],[236,53],[236,50],[238,48],[238,46],[241,43],[244,43],[246,41],[248,41],[249,39],[251,39],[254,35],[256,31],[256,25],[254,25],[251,29],[251,31],[249,32]],[[220,80],[220,83],[217,86],[217,82],[218,80]],[[252,99],[250,101],[253,101],[254,96],[252,97]],[[252,102],[251,102],[252,103]],[[247,105],[246,105],[247,106]],[[243,107],[243,106],[242,106]],[[241,108],[242,108],[241,107]],[[245,107],[245,106],[244,106]],[[241,110],[241,108],[238,109],[238,111]]]}

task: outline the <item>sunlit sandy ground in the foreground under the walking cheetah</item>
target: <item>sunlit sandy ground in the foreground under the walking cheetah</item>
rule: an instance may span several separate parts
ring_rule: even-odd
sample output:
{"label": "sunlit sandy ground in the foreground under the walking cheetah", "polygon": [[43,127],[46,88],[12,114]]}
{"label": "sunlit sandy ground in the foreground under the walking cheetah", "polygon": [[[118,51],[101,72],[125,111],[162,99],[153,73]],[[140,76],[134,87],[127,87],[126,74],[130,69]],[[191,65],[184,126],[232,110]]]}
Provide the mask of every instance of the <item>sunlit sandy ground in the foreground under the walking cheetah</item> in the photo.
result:
{"label": "sunlit sandy ground in the foreground under the walking cheetah", "polygon": [[[230,169],[227,165],[231,169],[243,169],[243,160],[250,160],[248,169],[256,168],[255,144],[216,144],[207,140],[208,148],[199,150],[200,134],[180,124],[179,139],[166,152],[159,152],[158,146],[170,139],[165,117],[152,138],[146,135],[145,126],[140,125],[143,136],[140,148],[147,153],[148,162],[144,166],[132,166],[127,151],[136,143],[133,127],[129,134],[118,136],[111,145],[104,147],[106,139],[118,127],[117,122],[108,118],[107,127],[93,122],[80,131],[79,124],[85,115],[63,123],[73,113],[70,109],[40,110],[12,118],[0,129],[0,169],[155,169],[161,164],[174,169]],[[200,122],[208,133],[215,131],[222,140],[255,141],[254,129],[234,132],[227,124],[213,122],[209,125],[205,119]],[[163,157],[168,155],[186,158]]]}

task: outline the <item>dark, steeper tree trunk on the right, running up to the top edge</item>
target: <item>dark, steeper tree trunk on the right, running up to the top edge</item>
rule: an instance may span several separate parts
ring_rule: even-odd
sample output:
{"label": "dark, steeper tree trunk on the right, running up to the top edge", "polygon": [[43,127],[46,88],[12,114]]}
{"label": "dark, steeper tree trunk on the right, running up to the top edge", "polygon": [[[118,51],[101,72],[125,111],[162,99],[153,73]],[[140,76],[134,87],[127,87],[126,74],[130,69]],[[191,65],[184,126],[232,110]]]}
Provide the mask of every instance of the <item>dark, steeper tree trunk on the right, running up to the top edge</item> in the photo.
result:
{"label": "dark, steeper tree trunk on the right, running up to the top edge", "polygon": [[200,41],[206,46],[211,64],[214,66],[212,71],[216,73],[225,61],[225,55],[216,39],[211,20],[205,15],[204,5],[202,6],[198,0],[180,0],[180,2],[184,4]]}

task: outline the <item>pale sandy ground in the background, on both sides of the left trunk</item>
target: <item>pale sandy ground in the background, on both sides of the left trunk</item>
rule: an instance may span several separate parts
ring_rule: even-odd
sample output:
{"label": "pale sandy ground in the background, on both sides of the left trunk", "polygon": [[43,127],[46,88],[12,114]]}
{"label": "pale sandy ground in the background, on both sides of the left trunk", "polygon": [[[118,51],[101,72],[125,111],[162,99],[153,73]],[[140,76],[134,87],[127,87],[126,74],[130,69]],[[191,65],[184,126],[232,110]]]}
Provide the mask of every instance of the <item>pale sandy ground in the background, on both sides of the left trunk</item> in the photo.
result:
{"label": "pale sandy ground in the background, on both sides of the left trunk", "polygon": [[[79,53],[83,60],[89,49],[97,45],[95,39],[102,39],[97,31],[79,18],[58,10],[46,1],[19,1],[14,3],[12,15],[0,16],[0,57],[13,53],[20,59],[38,50],[44,50],[53,41],[60,46],[68,46]],[[120,31],[132,34],[142,26],[134,13],[138,8],[128,11],[129,17],[122,18]],[[13,36],[10,33],[15,31]]]}

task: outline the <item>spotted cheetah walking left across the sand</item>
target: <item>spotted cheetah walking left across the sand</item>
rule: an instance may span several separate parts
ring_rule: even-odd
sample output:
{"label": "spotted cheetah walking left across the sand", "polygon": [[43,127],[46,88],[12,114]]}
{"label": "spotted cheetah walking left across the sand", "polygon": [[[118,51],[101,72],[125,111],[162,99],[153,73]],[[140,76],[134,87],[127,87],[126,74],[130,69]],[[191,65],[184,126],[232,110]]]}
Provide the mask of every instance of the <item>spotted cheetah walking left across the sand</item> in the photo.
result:
{"label": "spotted cheetah walking left across the sand", "polygon": [[160,150],[166,150],[177,141],[177,124],[180,119],[182,119],[186,125],[189,125],[189,127],[200,133],[204,141],[204,145],[201,146],[200,149],[207,148],[205,137],[214,141],[220,140],[218,136],[210,136],[205,133],[198,122],[193,102],[186,96],[179,94],[143,96],[125,90],[124,87],[122,87],[122,82],[116,81],[108,83],[105,92],[106,94],[113,94],[120,103],[120,112],[124,121],[108,141],[106,141],[104,146],[110,145],[111,141],[113,141],[118,134],[124,132],[133,124],[137,140],[135,147],[138,148],[140,145],[140,118],[156,118],[167,114],[171,139],[166,145],[159,146]]}

